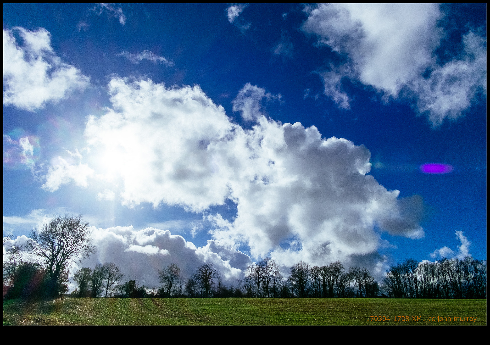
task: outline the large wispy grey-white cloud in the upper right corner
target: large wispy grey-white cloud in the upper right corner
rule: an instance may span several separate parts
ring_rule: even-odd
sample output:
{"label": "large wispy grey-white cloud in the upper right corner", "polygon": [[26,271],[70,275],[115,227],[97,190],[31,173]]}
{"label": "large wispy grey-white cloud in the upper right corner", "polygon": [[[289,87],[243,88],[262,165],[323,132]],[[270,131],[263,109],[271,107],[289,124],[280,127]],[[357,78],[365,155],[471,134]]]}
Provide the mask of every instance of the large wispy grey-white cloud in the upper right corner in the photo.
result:
{"label": "large wispy grey-white cloud in the upper right corner", "polygon": [[484,38],[469,32],[464,58],[437,65],[434,50],[443,35],[438,4],[319,4],[306,6],[305,12],[303,30],[347,60],[319,73],[325,94],[341,108],[350,102],[342,91],[343,77],[373,87],[385,100],[405,90],[403,95],[417,99],[418,112],[427,112],[434,126],[461,116],[477,90],[486,92]]}

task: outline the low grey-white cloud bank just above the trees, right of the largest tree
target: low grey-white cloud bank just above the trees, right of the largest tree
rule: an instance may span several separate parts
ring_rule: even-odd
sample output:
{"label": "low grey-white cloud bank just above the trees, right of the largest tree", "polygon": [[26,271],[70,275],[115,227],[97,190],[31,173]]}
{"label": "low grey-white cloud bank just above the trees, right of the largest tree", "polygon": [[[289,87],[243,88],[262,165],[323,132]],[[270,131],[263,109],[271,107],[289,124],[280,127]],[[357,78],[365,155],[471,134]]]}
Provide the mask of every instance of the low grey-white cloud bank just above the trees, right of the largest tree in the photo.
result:
{"label": "low grey-white cloud bank just above the trees, right of the largest tree", "polygon": [[140,284],[145,282],[148,287],[158,286],[158,271],[172,263],[180,267],[182,276],[190,277],[204,262],[213,262],[228,283],[234,283],[251,263],[246,254],[224,249],[216,241],[196,247],[180,235],[153,227],[142,230],[133,229],[132,226],[93,227],[92,235],[97,252],[76,263],[72,271],[80,267],[93,268],[98,263],[115,262],[126,277],[136,278]]}

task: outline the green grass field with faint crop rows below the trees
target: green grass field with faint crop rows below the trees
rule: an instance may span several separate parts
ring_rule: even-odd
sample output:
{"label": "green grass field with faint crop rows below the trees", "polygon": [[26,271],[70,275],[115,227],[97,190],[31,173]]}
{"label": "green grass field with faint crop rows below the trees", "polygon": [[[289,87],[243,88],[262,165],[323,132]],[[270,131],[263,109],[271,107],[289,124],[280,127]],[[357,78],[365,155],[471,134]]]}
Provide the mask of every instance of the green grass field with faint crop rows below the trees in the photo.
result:
{"label": "green grass field with faint crop rows below the trees", "polygon": [[[380,320],[375,321],[379,317]],[[441,317],[451,318],[451,321],[439,319]],[[454,317],[476,318],[476,321],[454,321]],[[3,302],[3,324],[487,325],[487,300],[58,298],[27,302],[14,299]]]}

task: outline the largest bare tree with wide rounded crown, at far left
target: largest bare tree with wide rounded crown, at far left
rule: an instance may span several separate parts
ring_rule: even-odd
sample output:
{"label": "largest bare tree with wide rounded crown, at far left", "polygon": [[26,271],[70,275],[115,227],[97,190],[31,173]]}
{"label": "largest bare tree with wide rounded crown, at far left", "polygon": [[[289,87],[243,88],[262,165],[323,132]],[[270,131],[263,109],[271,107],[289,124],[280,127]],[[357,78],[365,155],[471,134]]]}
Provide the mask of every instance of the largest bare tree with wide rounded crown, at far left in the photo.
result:
{"label": "largest bare tree with wide rounded crown, at far left", "polygon": [[30,237],[25,247],[43,262],[51,295],[56,293],[58,279],[74,258],[88,257],[95,252],[90,225],[81,216],[56,215],[40,230],[32,229]]}

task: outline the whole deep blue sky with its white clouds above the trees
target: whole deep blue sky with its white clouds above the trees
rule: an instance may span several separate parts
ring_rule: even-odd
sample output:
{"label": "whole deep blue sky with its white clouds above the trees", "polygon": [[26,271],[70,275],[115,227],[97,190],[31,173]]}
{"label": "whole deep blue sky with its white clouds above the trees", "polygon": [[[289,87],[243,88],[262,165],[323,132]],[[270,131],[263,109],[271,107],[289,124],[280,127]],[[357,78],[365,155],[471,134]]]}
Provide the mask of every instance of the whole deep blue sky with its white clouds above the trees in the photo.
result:
{"label": "whole deep blue sky with its white clouds above the trees", "polygon": [[[487,258],[486,4],[3,4],[5,250],[55,214],[148,287]],[[72,284],[73,285],[73,284]],[[73,286],[72,286],[73,288]]]}

